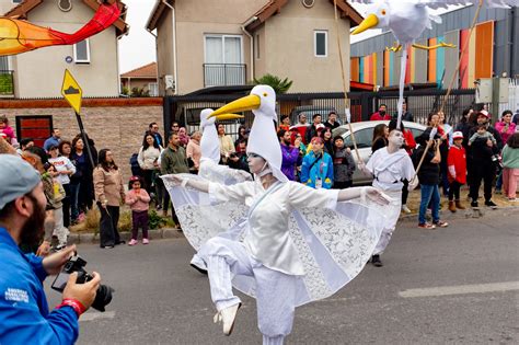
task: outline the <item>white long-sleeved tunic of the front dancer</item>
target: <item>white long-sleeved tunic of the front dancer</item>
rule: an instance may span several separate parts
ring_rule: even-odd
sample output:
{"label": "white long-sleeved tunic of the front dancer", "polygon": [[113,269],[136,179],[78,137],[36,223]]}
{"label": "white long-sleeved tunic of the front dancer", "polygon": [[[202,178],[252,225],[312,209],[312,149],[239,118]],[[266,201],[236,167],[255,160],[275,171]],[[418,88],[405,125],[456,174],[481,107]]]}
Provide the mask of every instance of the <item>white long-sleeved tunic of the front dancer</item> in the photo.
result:
{"label": "white long-sleeved tunic of the front dancer", "polygon": [[217,202],[240,202],[253,206],[249,229],[243,243],[251,255],[264,266],[290,275],[304,275],[303,265],[288,231],[293,208],[335,208],[338,189],[313,189],[296,182],[270,186],[266,192],[258,182],[244,182],[232,186],[209,184],[209,195]]}

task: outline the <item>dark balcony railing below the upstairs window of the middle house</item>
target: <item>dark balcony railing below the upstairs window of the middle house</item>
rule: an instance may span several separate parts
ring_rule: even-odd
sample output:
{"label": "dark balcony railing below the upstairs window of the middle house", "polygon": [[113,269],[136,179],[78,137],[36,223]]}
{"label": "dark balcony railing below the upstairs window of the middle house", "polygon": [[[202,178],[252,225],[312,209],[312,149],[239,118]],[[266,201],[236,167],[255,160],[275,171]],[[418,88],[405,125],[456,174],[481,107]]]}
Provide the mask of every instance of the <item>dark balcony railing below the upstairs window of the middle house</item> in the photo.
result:
{"label": "dark balcony railing below the upstairs window of the middle house", "polygon": [[204,88],[245,84],[244,64],[204,64]]}

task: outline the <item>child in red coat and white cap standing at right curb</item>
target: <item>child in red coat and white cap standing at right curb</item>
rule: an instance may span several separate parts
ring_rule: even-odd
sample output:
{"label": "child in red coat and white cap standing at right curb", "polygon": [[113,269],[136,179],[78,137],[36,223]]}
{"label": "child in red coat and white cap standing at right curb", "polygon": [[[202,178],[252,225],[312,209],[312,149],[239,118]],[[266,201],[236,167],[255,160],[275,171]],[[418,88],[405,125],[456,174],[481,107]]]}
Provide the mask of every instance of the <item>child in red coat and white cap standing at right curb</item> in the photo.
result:
{"label": "child in red coat and white cap standing at right curb", "polygon": [[454,131],[452,135],[453,145],[449,149],[447,158],[448,180],[449,180],[449,210],[455,212],[457,209],[465,209],[460,202],[460,187],[466,183],[466,156],[463,148],[463,134]]}

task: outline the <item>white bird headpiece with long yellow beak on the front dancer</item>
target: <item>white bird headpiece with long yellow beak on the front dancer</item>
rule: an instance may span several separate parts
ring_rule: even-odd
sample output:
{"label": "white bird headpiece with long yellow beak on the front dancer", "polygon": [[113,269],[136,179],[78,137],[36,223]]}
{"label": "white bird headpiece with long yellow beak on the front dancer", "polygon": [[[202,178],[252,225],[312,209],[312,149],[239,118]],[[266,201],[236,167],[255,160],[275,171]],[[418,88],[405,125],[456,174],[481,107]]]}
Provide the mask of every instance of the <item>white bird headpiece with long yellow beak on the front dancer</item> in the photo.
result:
{"label": "white bird headpiece with long yellow beak on the front dancer", "polygon": [[222,114],[252,111],[254,122],[249,135],[247,153],[256,153],[263,157],[269,165],[273,175],[280,182],[288,179],[281,172],[281,149],[276,135],[276,93],[268,85],[256,85],[251,90],[251,94],[231,102],[210,116],[221,116]]}

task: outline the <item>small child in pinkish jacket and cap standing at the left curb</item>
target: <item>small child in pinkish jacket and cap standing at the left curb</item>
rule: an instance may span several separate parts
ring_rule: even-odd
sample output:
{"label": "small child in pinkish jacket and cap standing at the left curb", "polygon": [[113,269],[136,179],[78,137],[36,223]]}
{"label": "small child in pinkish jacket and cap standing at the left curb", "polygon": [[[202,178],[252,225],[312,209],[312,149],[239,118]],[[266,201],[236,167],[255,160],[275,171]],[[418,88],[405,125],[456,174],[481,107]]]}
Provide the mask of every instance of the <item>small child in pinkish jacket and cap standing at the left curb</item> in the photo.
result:
{"label": "small child in pinkish jacket and cap standing at the left curb", "polygon": [[148,244],[148,209],[150,207],[150,196],[146,189],[141,188],[139,176],[131,176],[129,191],[126,194],[126,205],[131,208],[131,240],[128,245],[137,244],[139,228],[142,228],[142,244]]}

